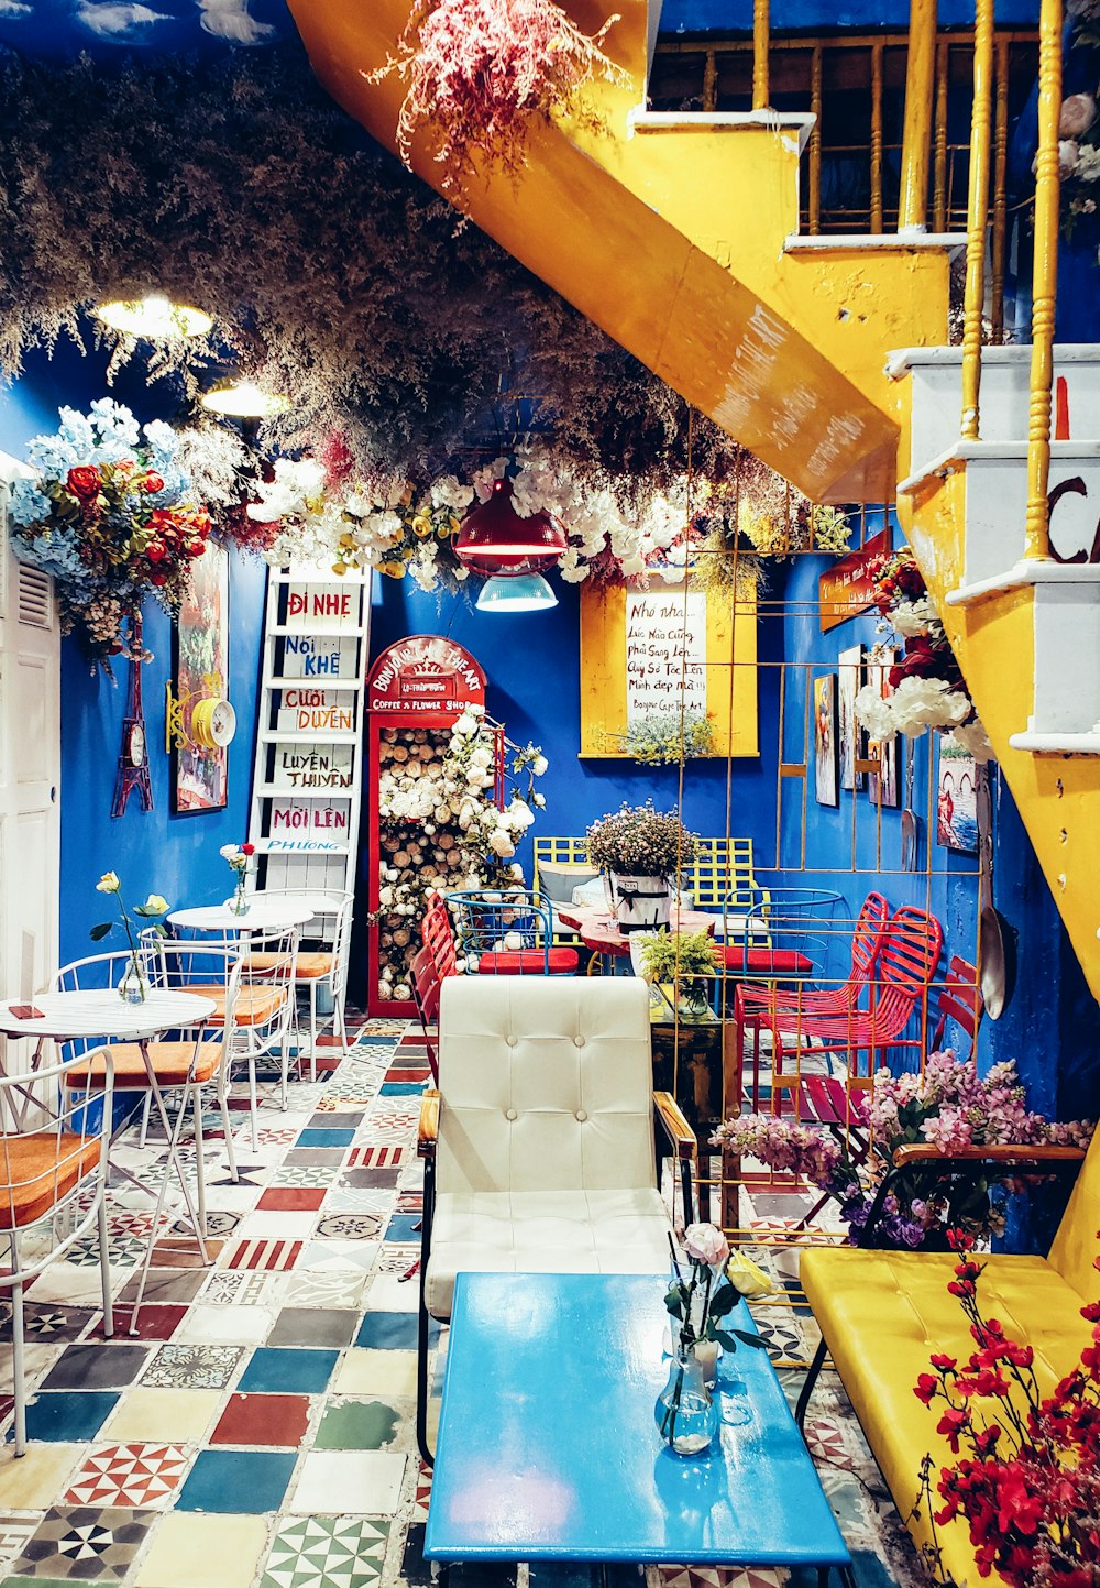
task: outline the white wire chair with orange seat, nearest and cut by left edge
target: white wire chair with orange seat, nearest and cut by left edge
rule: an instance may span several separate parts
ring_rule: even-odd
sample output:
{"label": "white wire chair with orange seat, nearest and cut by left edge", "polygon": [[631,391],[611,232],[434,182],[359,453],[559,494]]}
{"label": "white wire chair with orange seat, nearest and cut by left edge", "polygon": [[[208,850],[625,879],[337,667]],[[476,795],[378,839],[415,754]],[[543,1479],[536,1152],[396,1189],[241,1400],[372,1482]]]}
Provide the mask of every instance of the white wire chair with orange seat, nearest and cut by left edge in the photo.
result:
{"label": "white wire chair with orange seat, nearest and cut by left edge", "polygon": [[98,1096],[89,1100],[71,1089],[83,1062],[62,1059],[30,1073],[0,1075],[0,1242],[8,1248],[0,1288],[11,1291],[17,1456],[27,1450],[24,1289],[92,1228],[98,1231],[103,1332],[114,1334],[105,1204],[114,1077],[108,1053]]}

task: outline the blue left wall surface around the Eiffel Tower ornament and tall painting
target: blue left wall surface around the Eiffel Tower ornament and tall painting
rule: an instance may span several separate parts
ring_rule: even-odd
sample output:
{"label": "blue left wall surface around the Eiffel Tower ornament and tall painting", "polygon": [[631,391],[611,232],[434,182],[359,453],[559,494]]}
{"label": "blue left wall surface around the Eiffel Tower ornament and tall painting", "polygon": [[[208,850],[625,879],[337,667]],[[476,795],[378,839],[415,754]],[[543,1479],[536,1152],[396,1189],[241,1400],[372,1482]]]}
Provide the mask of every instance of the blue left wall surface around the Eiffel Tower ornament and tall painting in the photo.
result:
{"label": "blue left wall surface around the Eiffel Tower ornament and tall painting", "polygon": [[[0,402],[0,449],[22,456],[33,435],[56,429],[60,403],[84,408],[106,389],[103,362],[95,356],[83,359],[60,348],[52,362],[35,357]],[[129,403],[143,421],[171,418],[157,407],[156,386],[121,383],[111,395]],[[263,586],[262,564],[230,554],[229,696],[240,726],[229,751],[229,805],[222,811],[171,815],[170,761],[163,753],[165,683],[171,669],[168,616],[146,603],[144,638],[154,653],[141,681],[154,797],[149,813],[141,811],[132,794],[125,815],[111,816],[125,669],[116,669],[117,684],[113,684],[89,672],[75,638],[62,642],[62,962],[90,953],[89,927],[110,915],[103,896],[95,892],[105,870],[119,873],[130,904],[151,891],[176,905],[213,904],[230,892],[230,873],[217,850],[248,835]]]}

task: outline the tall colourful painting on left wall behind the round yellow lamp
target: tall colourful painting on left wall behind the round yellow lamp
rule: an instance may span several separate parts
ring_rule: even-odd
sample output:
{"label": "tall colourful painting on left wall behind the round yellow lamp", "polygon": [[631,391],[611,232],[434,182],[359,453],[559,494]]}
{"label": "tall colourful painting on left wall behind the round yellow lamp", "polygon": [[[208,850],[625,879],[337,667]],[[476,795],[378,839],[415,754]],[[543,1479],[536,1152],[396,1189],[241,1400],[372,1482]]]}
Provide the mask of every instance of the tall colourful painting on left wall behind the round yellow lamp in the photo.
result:
{"label": "tall colourful painting on left wall behind the round yellow lamp", "polygon": [[[192,562],[190,594],[175,627],[176,699],[208,694],[210,673],[229,680],[229,553],[206,542]],[[221,692],[221,691],[219,691]],[[171,789],[178,816],[222,810],[229,799],[229,748],[173,750]]]}

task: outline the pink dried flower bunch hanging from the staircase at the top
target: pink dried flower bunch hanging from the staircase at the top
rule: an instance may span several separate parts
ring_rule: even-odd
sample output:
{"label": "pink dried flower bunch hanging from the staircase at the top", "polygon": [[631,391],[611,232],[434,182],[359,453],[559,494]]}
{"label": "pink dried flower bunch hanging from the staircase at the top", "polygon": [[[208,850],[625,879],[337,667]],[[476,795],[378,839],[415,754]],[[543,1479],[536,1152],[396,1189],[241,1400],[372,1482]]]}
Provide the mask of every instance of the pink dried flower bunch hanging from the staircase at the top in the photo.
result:
{"label": "pink dried flower bunch hanging from the staircase at the top", "polygon": [[[430,125],[443,186],[475,170],[473,154],[511,172],[524,164],[532,121],[551,121],[595,78],[625,84],[627,75],[600,49],[617,16],[583,33],[554,0],[422,0],[413,10],[397,57],[368,75],[408,79],[397,148],[411,168],[413,137]],[[594,125],[595,119],[587,118]]]}

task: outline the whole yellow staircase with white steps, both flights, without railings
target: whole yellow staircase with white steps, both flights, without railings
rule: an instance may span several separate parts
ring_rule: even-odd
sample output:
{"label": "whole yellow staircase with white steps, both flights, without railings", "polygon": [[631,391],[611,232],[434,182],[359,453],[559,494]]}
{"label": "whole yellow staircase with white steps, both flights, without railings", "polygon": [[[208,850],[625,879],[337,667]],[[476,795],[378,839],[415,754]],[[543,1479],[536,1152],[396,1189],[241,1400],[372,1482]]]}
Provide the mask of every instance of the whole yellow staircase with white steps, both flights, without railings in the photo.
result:
{"label": "whole yellow staircase with white steps, both flights, without railings", "polygon": [[[289,3],[324,86],[394,149],[405,84],[392,73],[376,84],[367,76],[394,56],[411,0]],[[563,3],[589,33],[611,10],[610,0]],[[887,368],[890,349],[935,349],[943,341],[946,249],[960,240],[798,238],[798,160],[811,118],[644,111],[656,35],[651,11],[659,5],[619,0],[616,10],[621,21],[605,48],[627,71],[629,86],[589,91],[603,132],[584,132],[573,121],[535,127],[522,172],[508,176],[484,167],[465,184],[463,206],[535,275],[811,499],[889,502],[902,480],[898,515],[1100,997],[1100,738],[1092,732],[1100,707],[1089,716],[1092,696],[1078,688],[1084,673],[1092,680],[1092,653],[1100,657],[1100,632],[1089,627],[1100,616],[1094,602],[1100,584],[1090,584],[1095,569],[1068,581],[1052,575],[1051,588],[1040,589],[1044,576],[1011,576],[1019,553],[1010,545],[997,567],[987,567],[989,556],[975,562],[967,513],[973,529],[983,492],[971,491],[968,507],[967,491],[968,481],[986,480],[981,470],[990,457],[981,446],[995,446],[995,437],[957,440],[954,349],[937,349],[948,384],[932,407],[924,376],[914,375],[919,359]],[[429,135],[421,133],[414,168],[441,191],[443,172],[432,156]],[[927,362],[935,364],[935,353]],[[994,357],[994,375],[995,365]],[[1019,370],[1010,384],[1017,378]],[[929,441],[930,414],[951,429],[938,437],[938,453]],[[1022,537],[1027,427],[1016,419],[1013,426],[1000,459],[1000,511],[1006,524],[1014,518]],[[968,454],[967,445],[978,453]],[[1090,500],[1100,503],[1100,478]],[[983,578],[968,575],[968,556],[986,567]],[[1083,642],[1092,653],[1087,667],[1067,672],[1065,649],[1052,646],[1051,635],[1060,629],[1059,603],[1073,602],[1071,584],[1090,584],[1076,602],[1073,632],[1092,635]],[[1095,684],[1100,691],[1100,670]],[[1075,692],[1070,719],[1057,703],[1067,689]]]}

